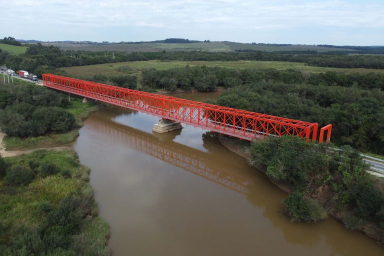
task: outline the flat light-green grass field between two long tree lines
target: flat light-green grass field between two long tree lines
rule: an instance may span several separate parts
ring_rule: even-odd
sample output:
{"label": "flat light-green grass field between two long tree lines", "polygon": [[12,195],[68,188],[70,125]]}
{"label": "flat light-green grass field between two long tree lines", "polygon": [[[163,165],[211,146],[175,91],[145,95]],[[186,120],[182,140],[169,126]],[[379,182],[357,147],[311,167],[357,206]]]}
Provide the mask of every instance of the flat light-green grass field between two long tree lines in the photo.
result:
{"label": "flat light-green grass field between two long tree lines", "polygon": [[[159,70],[170,69],[173,67],[183,67],[185,65],[206,65],[206,66],[221,66],[229,68],[276,68],[288,69],[294,68],[301,71],[308,72],[325,72],[325,71],[338,71],[338,72],[384,72],[384,69],[368,69],[368,68],[335,68],[335,67],[317,67],[307,66],[304,63],[298,62],[283,62],[283,61],[257,61],[257,60],[239,60],[239,61],[131,61],[131,62],[116,62],[87,66],[72,66],[62,67],[61,69],[68,74],[81,77],[93,76],[94,74],[104,75],[119,75],[126,72],[138,75],[140,69],[155,68]],[[124,71],[127,70],[127,71]]]}

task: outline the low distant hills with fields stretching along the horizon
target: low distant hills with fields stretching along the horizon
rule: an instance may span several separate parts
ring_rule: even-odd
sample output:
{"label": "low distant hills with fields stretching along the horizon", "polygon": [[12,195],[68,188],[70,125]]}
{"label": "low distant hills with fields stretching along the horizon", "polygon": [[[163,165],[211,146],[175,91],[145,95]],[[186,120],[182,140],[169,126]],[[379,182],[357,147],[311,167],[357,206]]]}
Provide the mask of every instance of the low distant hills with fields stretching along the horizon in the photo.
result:
{"label": "low distant hills with fields stretching along the horizon", "polygon": [[120,42],[96,42],[96,41],[50,41],[19,40],[23,43],[40,42],[44,45],[54,45],[63,50],[90,50],[90,51],[281,51],[297,53],[316,52],[340,52],[340,53],[362,53],[362,54],[384,54],[384,46],[352,46],[352,45],[330,45],[330,44],[289,44],[289,43],[241,43],[231,41],[199,41],[184,38],[166,38],[155,41],[120,41]]}

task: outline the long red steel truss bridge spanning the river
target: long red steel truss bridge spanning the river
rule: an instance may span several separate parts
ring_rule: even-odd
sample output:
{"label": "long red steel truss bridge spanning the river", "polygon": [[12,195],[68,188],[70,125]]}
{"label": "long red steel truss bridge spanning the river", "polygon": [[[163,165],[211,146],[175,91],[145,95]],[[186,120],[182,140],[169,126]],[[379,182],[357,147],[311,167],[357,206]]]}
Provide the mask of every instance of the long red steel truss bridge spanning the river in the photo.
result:
{"label": "long red steel truss bridge spanning the river", "polygon": [[[42,81],[46,87],[241,139],[252,140],[266,135],[296,135],[305,138],[306,141],[309,141],[309,139],[315,141],[317,139],[317,123],[126,89],[54,74],[43,74]],[[332,125],[328,124],[320,129],[319,143],[322,142],[324,131],[327,131],[326,141],[329,141],[331,128]]]}

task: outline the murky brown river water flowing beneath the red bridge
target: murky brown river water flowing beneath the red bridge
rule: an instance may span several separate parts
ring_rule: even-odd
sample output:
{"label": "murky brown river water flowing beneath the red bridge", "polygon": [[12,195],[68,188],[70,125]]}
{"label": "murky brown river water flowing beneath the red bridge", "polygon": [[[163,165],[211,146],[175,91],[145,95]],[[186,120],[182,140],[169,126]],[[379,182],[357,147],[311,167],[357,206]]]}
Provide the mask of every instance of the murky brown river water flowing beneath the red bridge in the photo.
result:
{"label": "murky brown river water flowing beneath the red bridge", "polygon": [[[204,101],[216,93],[178,93]],[[73,147],[90,167],[113,255],[383,255],[329,217],[292,223],[286,193],[206,130],[152,134],[158,117],[118,108],[84,121]]]}

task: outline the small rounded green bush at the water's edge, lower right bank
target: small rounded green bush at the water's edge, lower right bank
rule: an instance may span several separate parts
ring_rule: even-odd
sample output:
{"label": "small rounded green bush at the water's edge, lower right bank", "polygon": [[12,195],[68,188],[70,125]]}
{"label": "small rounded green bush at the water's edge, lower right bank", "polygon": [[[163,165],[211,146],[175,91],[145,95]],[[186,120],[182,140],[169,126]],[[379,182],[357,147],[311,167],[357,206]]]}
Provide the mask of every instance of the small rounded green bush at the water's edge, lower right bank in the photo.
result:
{"label": "small rounded green bush at the water's edge, lower right bank", "polygon": [[294,221],[317,222],[327,217],[326,210],[314,199],[293,192],[285,199],[288,216]]}

